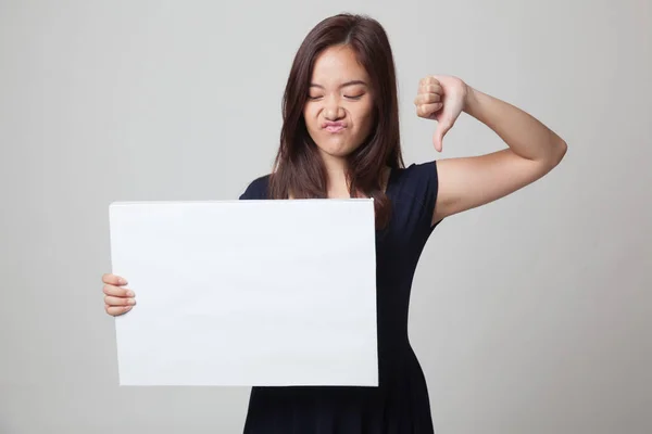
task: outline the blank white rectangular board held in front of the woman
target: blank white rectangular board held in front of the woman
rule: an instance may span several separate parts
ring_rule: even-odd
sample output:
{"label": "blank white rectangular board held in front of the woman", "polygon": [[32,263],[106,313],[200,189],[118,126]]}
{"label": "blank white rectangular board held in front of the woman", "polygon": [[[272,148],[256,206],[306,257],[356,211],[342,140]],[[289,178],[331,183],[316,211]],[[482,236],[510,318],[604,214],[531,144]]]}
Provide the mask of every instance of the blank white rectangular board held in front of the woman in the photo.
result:
{"label": "blank white rectangular board held in front of the woman", "polygon": [[378,385],[372,200],[113,203],[122,385]]}

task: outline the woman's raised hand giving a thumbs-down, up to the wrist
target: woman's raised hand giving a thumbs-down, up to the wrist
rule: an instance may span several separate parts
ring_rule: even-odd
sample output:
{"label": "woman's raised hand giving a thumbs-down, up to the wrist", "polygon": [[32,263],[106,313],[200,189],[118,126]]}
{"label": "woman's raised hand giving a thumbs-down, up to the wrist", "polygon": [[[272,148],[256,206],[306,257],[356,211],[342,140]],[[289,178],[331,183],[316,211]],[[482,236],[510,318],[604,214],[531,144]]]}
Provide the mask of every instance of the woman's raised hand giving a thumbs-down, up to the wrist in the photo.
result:
{"label": "woman's raised hand giving a thumbs-down, up to the wrist", "polygon": [[443,137],[464,110],[469,92],[469,87],[456,77],[431,75],[421,79],[414,105],[417,116],[437,120],[432,137],[437,151],[441,152]]}

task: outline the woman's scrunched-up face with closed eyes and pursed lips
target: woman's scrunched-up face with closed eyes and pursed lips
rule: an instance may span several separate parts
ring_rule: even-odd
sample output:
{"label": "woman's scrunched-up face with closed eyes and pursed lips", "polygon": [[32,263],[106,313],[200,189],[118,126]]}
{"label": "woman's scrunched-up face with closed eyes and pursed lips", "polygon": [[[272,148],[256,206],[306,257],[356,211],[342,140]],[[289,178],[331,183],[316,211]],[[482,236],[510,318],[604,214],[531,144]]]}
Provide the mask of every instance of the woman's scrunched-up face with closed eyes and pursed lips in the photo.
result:
{"label": "woman's scrunched-up face with closed eyes and pursed lips", "polygon": [[344,157],[360,146],[373,124],[369,77],[347,46],[326,49],[315,60],[303,108],[308,132],[322,154]]}

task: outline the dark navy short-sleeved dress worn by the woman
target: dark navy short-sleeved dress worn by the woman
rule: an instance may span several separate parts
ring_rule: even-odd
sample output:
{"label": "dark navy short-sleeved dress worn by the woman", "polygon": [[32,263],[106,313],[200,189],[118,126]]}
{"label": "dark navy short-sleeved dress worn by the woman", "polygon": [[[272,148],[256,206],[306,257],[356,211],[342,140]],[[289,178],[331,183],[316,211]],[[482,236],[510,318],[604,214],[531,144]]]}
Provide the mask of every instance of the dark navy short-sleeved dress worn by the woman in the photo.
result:
{"label": "dark navy short-sleeved dress worn by the woman", "polygon": [[[268,176],[241,200],[267,199]],[[253,387],[246,434],[429,434],[428,390],[408,339],[414,270],[432,229],[436,162],[392,169],[387,195],[392,216],[376,231],[378,387]]]}

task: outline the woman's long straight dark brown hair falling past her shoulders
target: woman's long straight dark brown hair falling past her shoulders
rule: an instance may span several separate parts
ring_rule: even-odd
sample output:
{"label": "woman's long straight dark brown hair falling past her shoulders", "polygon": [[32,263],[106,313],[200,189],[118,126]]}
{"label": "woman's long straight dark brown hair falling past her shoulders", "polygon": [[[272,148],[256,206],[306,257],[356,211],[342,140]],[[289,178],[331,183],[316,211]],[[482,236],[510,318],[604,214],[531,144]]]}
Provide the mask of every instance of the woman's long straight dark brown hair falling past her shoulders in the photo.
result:
{"label": "woman's long straight dark brown hair falling past her shoulders", "polygon": [[269,196],[326,197],[326,171],[303,118],[315,59],[325,49],[347,44],[371,78],[374,124],[365,142],[348,156],[351,195],[374,199],[376,226],[385,227],[391,204],[384,192],[384,173],[403,167],[399,132],[396,71],[391,47],[383,26],[364,15],[338,14],[318,23],[297,51],[283,98],[283,128]]}

